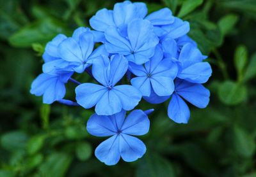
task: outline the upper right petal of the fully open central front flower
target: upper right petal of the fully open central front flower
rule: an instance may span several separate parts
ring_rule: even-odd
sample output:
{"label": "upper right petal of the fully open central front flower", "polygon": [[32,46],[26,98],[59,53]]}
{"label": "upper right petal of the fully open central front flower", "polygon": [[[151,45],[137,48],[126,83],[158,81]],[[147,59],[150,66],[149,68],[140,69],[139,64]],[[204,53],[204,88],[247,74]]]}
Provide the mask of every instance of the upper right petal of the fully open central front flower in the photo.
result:
{"label": "upper right petal of the fully open central front flower", "polygon": [[113,55],[110,60],[109,82],[112,87],[123,78],[128,69],[128,61],[123,55]]}

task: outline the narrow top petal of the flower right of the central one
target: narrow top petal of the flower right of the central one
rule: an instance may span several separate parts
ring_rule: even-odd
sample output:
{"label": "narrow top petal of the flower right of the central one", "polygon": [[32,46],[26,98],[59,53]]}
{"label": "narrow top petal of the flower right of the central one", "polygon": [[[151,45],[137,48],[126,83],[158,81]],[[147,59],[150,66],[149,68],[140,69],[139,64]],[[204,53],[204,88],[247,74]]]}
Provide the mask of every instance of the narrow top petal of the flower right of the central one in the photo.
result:
{"label": "narrow top petal of the flower right of the central one", "polygon": [[160,46],[157,45],[153,57],[150,59],[150,61],[145,63],[145,68],[147,69],[147,72],[152,73],[159,65],[162,59],[163,51],[161,50]]}

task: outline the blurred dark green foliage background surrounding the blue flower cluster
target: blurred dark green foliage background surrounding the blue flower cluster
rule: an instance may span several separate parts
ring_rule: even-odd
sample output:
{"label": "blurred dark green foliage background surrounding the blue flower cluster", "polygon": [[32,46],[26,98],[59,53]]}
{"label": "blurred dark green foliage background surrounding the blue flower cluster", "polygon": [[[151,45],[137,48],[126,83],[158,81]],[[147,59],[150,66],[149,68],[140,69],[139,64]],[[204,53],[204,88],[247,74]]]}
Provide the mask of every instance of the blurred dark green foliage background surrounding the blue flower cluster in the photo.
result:
{"label": "blurred dark green foliage background surrounding the blue flower cluster", "polygon": [[[56,34],[67,36],[114,0],[0,0],[0,176],[256,176],[256,1],[143,1],[168,7],[191,24],[189,36],[209,55],[209,106],[191,108],[175,124],[167,105],[140,104],[150,115],[136,162],[105,166],[94,156],[104,138],[86,132],[92,110],[42,104],[29,94],[42,72],[42,53]],[[86,74],[75,76],[89,80]],[[74,99],[76,85],[67,85]]]}

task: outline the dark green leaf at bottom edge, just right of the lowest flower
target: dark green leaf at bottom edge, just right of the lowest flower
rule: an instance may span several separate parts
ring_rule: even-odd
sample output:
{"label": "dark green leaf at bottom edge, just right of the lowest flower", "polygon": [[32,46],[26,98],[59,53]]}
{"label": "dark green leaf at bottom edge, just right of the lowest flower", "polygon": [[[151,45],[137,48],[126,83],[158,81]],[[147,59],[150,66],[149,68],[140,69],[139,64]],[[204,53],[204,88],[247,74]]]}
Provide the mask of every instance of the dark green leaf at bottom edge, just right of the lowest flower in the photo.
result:
{"label": "dark green leaf at bottom edge, just right of the lowest flower", "polygon": [[157,177],[175,176],[172,164],[154,152],[147,152],[145,157],[139,161],[136,176]]}

